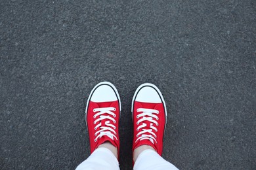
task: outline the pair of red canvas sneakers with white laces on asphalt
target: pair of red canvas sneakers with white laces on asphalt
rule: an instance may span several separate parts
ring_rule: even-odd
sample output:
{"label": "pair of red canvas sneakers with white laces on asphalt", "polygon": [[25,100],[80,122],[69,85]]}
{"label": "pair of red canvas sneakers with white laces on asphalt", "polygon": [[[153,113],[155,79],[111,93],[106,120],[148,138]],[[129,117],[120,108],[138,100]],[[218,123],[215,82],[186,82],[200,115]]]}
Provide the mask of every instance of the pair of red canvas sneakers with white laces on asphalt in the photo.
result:
{"label": "pair of red canvas sneakers with white laces on asphalt", "polygon": [[[121,101],[116,87],[110,82],[97,84],[89,95],[85,110],[91,153],[108,141],[117,147],[119,154],[120,112]],[[161,155],[167,112],[160,90],[154,84],[141,84],[133,96],[131,112],[133,150],[146,144]]]}

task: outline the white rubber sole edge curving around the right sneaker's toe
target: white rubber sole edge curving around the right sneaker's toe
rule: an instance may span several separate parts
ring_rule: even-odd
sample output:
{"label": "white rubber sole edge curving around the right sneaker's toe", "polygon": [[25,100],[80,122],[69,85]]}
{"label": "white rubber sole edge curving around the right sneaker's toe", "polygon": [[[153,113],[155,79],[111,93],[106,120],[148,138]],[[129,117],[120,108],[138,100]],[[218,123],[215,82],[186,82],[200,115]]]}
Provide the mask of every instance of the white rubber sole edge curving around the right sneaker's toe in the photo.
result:
{"label": "white rubber sole edge curving around the right sneaker's toe", "polygon": [[156,90],[156,92],[158,92],[158,95],[160,96],[161,98],[161,101],[163,103],[163,107],[165,109],[165,127],[166,127],[166,123],[167,123],[167,109],[166,109],[166,105],[165,105],[165,100],[163,99],[163,95],[161,94],[160,90],[158,89],[158,87],[154,84],[151,84],[151,83],[144,83],[144,84],[141,84],[137,90],[135,91],[135,94],[133,95],[133,101],[131,103],[131,118],[133,120],[133,103],[135,101],[135,98],[137,96],[137,93],[139,93],[139,91],[144,88],[144,87],[152,87],[154,88],[154,90]]}

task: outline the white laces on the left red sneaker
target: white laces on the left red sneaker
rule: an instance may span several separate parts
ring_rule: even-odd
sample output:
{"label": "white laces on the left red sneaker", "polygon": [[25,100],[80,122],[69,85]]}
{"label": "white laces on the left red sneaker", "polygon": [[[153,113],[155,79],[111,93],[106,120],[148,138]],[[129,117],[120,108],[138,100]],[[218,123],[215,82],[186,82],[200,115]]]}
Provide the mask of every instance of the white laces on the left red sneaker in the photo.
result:
{"label": "white laces on the left red sneaker", "polygon": [[[114,126],[112,123],[110,123],[110,120],[112,120],[112,122],[114,122],[114,124],[116,124],[116,120],[114,118],[116,118],[116,114],[114,114],[114,112],[112,111],[116,111],[116,108],[114,107],[102,107],[102,108],[96,108],[93,109],[93,112],[97,112],[93,118],[96,118],[97,116],[99,116],[99,118],[97,118],[93,123],[96,124],[97,122],[100,122],[101,120],[107,120],[105,122],[105,124],[102,125],[102,122],[100,122],[99,124],[97,124],[95,126],[95,130],[100,127],[100,129],[98,131],[95,132],[95,142],[97,141],[98,138],[106,135],[108,137],[110,137],[110,139],[114,140],[114,137],[117,140],[116,137],[116,131],[114,129],[116,129],[116,126]],[[102,115],[102,114],[110,114],[108,116],[106,115]],[[114,118],[112,118],[112,116]],[[112,128],[111,128],[112,127]]]}

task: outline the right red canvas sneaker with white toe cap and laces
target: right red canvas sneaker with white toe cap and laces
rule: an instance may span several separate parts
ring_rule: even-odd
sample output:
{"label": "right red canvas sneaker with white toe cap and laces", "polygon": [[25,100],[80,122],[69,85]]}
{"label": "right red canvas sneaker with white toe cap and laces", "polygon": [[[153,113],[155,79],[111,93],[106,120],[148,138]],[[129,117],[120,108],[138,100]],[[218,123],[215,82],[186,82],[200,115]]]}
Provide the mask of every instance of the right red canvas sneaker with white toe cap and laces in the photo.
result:
{"label": "right red canvas sneaker with white toe cap and laces", "polygon": [[160,90],[154,84],[141,84],[133,95],[131,112],[133,150],[146,144],[152,146],[161,156],[167,112]]}

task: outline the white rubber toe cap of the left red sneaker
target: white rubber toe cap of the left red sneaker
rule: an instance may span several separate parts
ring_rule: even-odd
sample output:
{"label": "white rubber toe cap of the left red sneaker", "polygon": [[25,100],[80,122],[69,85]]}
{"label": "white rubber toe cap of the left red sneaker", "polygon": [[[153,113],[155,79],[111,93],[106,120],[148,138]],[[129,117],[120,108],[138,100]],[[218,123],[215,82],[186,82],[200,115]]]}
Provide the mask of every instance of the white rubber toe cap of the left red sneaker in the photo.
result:
{"label": "white rubber toe cap of the left red sneaker", "polygon": [[91,96],[93,102],[117,101],[117,94],[108,84],[100,84],[95,88]]}

